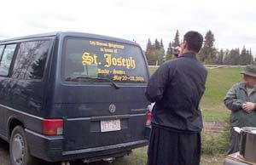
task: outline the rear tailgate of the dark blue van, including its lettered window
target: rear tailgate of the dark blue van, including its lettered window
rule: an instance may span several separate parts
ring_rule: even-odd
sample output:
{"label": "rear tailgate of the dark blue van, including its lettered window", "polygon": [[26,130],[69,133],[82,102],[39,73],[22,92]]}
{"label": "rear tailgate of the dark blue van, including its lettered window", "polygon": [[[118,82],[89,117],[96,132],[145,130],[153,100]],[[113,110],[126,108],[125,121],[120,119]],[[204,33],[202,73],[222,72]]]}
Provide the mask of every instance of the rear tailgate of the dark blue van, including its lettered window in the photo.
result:
{"label": "rear tailgate of the dark blue van, including its lettered window", "polygon": [[148,67],[137,44],[64,40],[56,114],[66,117],[66,150],[145,140]]}

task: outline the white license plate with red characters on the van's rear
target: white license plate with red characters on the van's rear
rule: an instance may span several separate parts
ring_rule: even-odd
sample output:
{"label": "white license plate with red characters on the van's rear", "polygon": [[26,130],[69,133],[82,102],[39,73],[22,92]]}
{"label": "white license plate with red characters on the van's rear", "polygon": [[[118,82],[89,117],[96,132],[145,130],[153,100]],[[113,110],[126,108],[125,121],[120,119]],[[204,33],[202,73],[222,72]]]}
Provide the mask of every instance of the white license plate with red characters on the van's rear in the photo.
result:
{"label": "white license plate with red characters on the van's rear", "polygon": [[120,120],[101,121],[102,132],[121,130]]}

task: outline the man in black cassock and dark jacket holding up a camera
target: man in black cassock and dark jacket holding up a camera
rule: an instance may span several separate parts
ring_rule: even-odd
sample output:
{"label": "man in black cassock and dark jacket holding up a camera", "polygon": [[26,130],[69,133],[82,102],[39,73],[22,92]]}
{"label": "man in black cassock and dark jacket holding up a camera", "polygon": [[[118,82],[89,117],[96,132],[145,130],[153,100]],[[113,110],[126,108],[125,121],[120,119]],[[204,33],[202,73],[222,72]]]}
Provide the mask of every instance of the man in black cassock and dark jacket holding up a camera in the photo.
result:
{"label": "man in black cassock and dark jacket holding up a camera", "polygon": [[196,60],[203,37],[188,31],[177,59],[168,60],[148,81],[146,96],[155,102],[148,165],[199,165],[202,117],[199,103],[207,69]]}

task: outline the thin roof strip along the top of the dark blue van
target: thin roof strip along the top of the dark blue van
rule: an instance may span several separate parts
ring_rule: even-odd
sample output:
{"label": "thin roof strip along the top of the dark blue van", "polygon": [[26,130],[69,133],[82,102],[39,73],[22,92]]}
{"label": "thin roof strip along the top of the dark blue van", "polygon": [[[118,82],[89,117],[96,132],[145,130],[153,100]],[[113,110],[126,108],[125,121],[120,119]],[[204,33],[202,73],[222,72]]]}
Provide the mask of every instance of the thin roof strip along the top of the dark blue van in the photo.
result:
{"label": "thin roof strip along the top of the dark blue van", "polygon": [[0,43],[18,41],[18,40],[23,40],[23,39],[32,39],[32,38],[38,38],[38,37],[55,37],[55,36],[60,36],[60,37],[61,36],[62,37],[67,37],[67,36],[89,37],[89,38],[96,38],[96,39],[116,41],[116,42],[119,42],[119,43],[130,43],[130,44],[138,45],[135,42],[131,42],[129,40],[125,40],[125,39],[121,39],[121,38],[117,38],[117,37],[108,37],[108,36],[103,36],[103,35],[90,34],[90,33],[84,33],[84,32],[77,32],[77,31],[57,31],[57,32],[35,34],[35,35],[30,35],[30,36],[25,36],[25,37],[7,38],[7,39],[0,40]]}

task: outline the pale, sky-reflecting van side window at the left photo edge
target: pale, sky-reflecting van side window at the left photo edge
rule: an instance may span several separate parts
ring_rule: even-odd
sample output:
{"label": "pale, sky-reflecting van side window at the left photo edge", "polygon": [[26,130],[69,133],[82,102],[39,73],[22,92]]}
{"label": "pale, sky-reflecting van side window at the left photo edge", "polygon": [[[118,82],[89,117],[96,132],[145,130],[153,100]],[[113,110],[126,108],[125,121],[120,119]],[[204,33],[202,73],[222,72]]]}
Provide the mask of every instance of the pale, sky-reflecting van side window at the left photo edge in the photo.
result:
{"label": "pale, sky-reflecting van side window at the left photo edge", "polygon": [[[3,49],[3,55],[0,61],[0,75],[7,76],[9,74],[9,66],[15,54],[16,44],[6,45]],[[1,49],[0,49],[1,51]]]}

